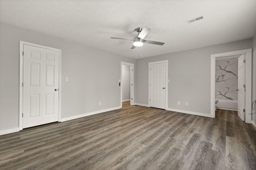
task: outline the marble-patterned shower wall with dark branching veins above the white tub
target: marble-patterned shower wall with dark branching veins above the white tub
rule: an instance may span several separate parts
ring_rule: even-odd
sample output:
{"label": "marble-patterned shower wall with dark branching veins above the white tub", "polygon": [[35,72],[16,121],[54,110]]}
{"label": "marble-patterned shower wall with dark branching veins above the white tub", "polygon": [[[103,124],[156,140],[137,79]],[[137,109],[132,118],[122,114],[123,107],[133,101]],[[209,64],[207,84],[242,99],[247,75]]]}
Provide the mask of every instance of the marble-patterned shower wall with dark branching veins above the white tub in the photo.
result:
{"label": "marble-patterned shower wall with dark branching veins above the white tub", "polygon": [[216,60],[216,99],[238,100],[238,58]]}

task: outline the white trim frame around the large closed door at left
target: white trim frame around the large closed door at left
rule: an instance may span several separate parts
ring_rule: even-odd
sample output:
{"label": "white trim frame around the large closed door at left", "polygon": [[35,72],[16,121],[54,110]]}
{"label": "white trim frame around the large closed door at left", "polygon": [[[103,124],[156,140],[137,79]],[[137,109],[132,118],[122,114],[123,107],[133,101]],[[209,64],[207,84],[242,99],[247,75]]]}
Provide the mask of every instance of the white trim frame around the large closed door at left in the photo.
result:
{"label": "white trim frame around the large closed door at left", "polygon": [[58,105],[58,122],[61,121],[61,49],[47,47],[44,45],[38,45],[35,43],[29,43],[20,41],[20,82],[19,82],[19,130],[23,129],[23,119],[22,119],[22,112],[23,112],[23,46],[24,45],[31,45],[35,47],[51,49],[59,52],[59,105]]}

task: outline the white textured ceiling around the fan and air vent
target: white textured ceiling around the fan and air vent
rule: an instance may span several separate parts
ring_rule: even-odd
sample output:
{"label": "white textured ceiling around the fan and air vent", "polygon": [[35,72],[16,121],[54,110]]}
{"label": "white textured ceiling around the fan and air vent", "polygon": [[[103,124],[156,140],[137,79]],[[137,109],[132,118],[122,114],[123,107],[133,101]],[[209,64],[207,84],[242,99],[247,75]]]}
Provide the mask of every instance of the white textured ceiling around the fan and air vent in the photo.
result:
{"label": "white textured ceiling around the fan and air vent", "polygon": [[[187,20],[204,19],[187,23]],[[0,22],[131,58],[252,38],[256,0],[0,0]],[[137,27],[151,31],[132,47]]]}

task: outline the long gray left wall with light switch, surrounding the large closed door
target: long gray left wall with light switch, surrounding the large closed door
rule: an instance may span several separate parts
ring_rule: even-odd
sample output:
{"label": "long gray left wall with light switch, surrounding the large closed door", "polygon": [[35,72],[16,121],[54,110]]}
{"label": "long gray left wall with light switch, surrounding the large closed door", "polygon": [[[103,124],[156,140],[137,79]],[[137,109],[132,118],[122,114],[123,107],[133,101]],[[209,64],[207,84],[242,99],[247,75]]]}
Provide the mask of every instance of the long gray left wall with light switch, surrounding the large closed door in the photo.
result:
{"label": "long gray left wall with light switch, surrounding the large closed door", "polygon": [[19,40],[62,50],[62,118],[120,106],[120,64],[135,59],[0,23],[0,130],[19,125]]}

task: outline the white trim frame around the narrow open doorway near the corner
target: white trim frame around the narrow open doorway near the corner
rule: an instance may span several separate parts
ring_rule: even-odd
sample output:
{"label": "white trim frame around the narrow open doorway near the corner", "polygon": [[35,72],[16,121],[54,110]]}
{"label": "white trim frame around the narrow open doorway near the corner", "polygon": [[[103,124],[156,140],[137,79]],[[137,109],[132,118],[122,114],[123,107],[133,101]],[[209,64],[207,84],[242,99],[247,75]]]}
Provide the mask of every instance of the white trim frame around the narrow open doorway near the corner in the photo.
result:
{"label": "white trim frame around the narrow open doorway near the corner", "polygon": [[130,69],[130,105],[134,105],[134,64],[133,63],[126,63],[126,62],[122,62],[121,61],[121,79],[120,79],[120,107],[122,108],[122,98],[123,98],[123,94],[122,94],[122,82],[123,82],[123,69],[122,69],[122,65],[128,65],[131,67]]}

